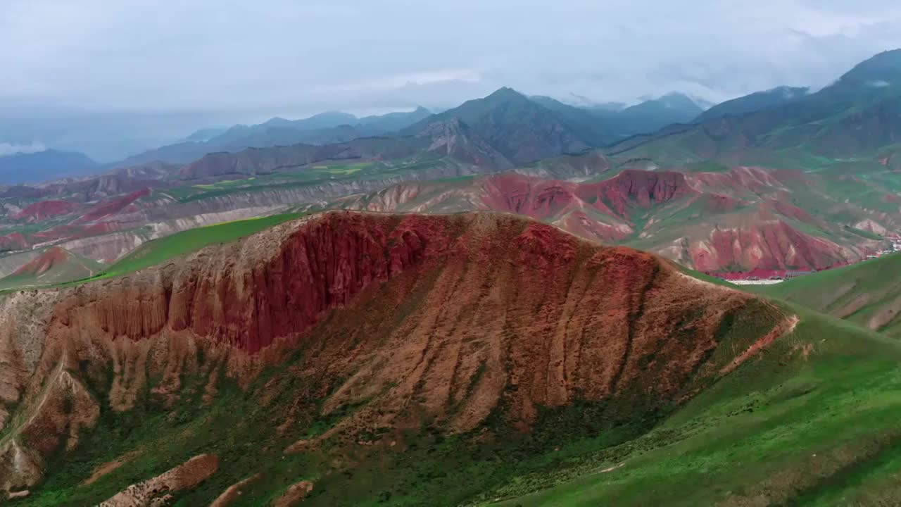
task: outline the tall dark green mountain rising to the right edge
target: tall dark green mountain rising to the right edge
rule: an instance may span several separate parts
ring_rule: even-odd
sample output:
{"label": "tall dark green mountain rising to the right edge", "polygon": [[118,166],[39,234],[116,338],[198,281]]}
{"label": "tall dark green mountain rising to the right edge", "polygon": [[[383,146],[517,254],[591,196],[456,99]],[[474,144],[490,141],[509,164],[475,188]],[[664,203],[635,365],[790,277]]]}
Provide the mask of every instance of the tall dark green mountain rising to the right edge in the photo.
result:
{"label": "tall dark green mountain rising to the right edge", "polygon": [[782,106],[669,128],[607,152],[660,163],[717,160],[804,167],[901,143],[901,50],[879,53],[833,85]]}

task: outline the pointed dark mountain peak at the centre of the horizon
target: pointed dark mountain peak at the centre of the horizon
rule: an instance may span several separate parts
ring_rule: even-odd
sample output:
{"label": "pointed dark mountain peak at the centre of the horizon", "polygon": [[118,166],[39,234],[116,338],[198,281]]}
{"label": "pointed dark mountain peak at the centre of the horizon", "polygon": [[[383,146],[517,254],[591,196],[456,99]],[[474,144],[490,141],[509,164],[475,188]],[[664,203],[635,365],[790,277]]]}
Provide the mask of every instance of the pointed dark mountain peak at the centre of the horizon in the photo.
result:
{"label": "pointed dark mountain peak at the centre of the horizon", "polygon": [[456,118],[514,164],[582,152],[605,141],[596,130],[599,121],[578,107],[560,106],[551,109],[512,88],[500,88],[487,97],[429,116],[402,134],[419,134],[429,124]]}

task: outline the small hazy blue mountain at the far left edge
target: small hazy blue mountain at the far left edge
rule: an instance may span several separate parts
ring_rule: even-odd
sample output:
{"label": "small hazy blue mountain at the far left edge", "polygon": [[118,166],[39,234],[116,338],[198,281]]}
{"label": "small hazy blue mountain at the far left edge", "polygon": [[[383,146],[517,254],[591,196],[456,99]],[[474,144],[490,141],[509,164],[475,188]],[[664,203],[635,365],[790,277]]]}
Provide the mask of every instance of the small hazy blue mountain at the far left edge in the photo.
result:
{"label": "small hazy blue mountain at the far left edge", "polygon": [[0,157],[0,184],[84,176],[98,167],[99,164],[84,153],[57,150],[16,153]]}

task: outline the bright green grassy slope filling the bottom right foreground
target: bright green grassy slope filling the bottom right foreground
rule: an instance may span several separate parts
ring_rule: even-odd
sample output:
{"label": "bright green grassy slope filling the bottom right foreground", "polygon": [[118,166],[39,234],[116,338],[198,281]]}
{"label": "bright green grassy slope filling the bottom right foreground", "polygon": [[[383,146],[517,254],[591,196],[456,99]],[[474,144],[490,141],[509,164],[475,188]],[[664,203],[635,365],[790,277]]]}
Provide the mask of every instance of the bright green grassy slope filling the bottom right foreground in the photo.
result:
{"label": "bright green grassy slope filling the bottom right foreground", "polygon": [[801,322],[759,360],[619,452],[564,469],[551,489],[504,505],[866,505],[897,498],[901,346],[789,309]]}

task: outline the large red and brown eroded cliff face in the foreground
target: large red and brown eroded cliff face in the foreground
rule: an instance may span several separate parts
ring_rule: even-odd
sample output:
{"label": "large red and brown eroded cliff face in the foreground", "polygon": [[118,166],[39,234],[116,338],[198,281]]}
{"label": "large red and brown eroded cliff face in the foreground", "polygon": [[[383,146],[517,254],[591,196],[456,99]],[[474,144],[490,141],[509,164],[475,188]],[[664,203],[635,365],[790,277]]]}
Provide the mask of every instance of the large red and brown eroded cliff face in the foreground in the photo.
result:
{"label": "large red and brown eroded cliff face in the foreground", "polygon": [[132,410],[147,392],[171,403],[188,378],[205,379],[208,401],[223,376],[246,386],[297,350],[286,374],[310,382],[280,428],[355,406],[323,438],[423,419],[465,432],[499,408],[527,430],[539,407],[579,399],[678,403],[759,337],[731,337],[735,323],[763,336],[784,318],[649,253],[518,217],[332,212],[10,295],[0,320],[0,489],[15,490],[102,406]]}

